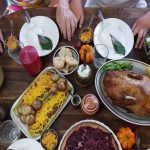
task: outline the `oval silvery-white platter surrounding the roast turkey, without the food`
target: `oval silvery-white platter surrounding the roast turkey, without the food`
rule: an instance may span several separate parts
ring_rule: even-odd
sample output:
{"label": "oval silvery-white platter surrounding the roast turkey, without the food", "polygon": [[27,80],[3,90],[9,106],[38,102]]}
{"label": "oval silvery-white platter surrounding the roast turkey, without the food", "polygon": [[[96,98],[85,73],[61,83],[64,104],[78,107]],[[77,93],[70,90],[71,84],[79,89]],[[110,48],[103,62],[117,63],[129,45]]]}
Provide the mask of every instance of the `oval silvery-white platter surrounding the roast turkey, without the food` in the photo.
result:
{"label": "oval silvery-white platter surrounding the roast turkey, without the food", "polygon": [[[143,63],[141,61],[138,60],[134,60],[134,59],[120,59],[120,60],[116,60],[119,63],[122,62],[129,62],[133,65],[133,69],[132,71],[138,72],[140,74],[146,74],[146,68],[149,66],[146,63]],[[111,63],[111,61],[106,62],[105,64],[109,64]],[[105,65],[104,64],[104,65]],[[103,66],[102,65],[97,73],[96,73],[96,77],[95,77],[95,87],[96,87],[96,91],[99,95],[99,97],[101,98],[102,102],[104,103],[104,105],[116,116],[118,116],[119,118],[123,119],[124,121],[127,121],[129,123],[132,124],[137,124],[137,125],[142,125],[142,126],[150,126],[150,117],[140,117],[137,116],[133,113],[129,113],[127,112],[125,109],[122,109],[118,106],[113,105],[108,96],[106,96],[106,93],[104,92],[104,86],[103,86],[103,79],[105,76],[105,72],[103,71]]]}

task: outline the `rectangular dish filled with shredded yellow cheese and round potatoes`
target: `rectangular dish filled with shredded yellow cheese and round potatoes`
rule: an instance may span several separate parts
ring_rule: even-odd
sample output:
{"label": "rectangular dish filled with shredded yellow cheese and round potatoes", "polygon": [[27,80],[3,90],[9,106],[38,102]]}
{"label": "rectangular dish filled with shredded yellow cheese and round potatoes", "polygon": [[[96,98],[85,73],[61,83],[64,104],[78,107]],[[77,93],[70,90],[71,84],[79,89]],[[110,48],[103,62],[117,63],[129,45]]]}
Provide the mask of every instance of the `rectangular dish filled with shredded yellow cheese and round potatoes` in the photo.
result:
{"label": "rectangular dish filled with shredded yellow cheese and round potatoes", "polygon": [[45,69],[13,105],[11,117],[27,137],[39,139],[67,105],[72,90],[55,69]]}

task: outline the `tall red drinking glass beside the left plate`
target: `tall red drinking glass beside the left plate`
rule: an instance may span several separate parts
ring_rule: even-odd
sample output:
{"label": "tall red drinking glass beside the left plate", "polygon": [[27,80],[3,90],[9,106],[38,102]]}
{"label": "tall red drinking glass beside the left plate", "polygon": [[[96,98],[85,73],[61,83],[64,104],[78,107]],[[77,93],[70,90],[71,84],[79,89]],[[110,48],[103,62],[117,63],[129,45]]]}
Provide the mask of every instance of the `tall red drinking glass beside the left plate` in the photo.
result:
{"label": "tall red drinking glass beside the left plate", "polygon": [[19,58],[31,76],[38,75],[42,70],[42,62],[33,46],[25,46],[19,53]]}

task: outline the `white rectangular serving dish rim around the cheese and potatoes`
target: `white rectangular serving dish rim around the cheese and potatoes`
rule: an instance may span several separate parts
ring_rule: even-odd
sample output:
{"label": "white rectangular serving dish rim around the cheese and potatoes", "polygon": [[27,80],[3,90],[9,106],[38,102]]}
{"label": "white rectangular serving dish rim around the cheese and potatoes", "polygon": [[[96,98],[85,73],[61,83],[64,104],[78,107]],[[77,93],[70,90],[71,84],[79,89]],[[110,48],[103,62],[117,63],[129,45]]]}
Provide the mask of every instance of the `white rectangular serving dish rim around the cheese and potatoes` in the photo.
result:
{"label": "white rectangular serving dish rim around the cheese and potatoes", "polygon": [[[45,68],[40,74],[42,74],[43,72],[45,72],[46,70],[56,70],[55,68],[53,67],[47,67]],[[56,72],[59,74],[59,72],[56,70]],[[40,74],[36,77],[36,79],[40,76]],[[59,74],[60,75],[60,74]],[[60,75],[62,77],[64,77],[63,75]],[[64,77],[65,78],[65,77]],[[35,79],[35,80],[36,80]],[[67,80],[67,79],[66,79]],[[34,82],[34,81],[33,81]],[[32,83],[31,83],[32,84]],[[69,82],[69,80],[67,80],[67,84],[71,87],[71,93],[73,94],[74,93],[74,88],[72,86],[72,84]],[[28,86],[30,87],[30,85]],[[10,116],[12,118],[12,120],[15,122],[15,124],[18,126],[18,128],[26,135],[26,137],[28,138],[31,138],[31,139],[35,139],[35,140],[38,140],[40,139],[41,137],[41,134],[37,137],[32,137],[29,132],[28,132],[28,126],[23,124],[20,119],[16,116],[16,114],[14,113],[14,108],[16,107],[16,105],[18,105],[18,103],[20,103],[21,101],[21,98],[23,96],[23,94],[28,90],[28,88],[21,94],[21,96],[15,101],[15,103],[13,104],[13,106],[11,107],[11,111],[10,111]],[[66,101],[65,103],[56,111],[56,115],[53,117],[52,121],[46,126],[46,129],[48,129],[53,123],[54,121],[56,120],[56,118],[60,115],[60,113],[62,112],[62,110],[66,107],[66,105],[69,103],[70,99],[71,99],[71,95],[69,94],[66,98]],[[45,130],[46,130],[45,129]],[[44,132],[44,131],[43,131]]]}

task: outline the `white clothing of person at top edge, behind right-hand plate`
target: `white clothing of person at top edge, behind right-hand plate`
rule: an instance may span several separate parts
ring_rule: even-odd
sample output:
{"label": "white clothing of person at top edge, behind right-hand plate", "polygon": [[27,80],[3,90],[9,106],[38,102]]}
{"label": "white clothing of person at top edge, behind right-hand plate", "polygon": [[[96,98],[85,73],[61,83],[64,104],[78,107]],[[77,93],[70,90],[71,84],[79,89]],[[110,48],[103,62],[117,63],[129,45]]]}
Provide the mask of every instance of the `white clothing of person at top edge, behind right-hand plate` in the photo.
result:
{"label": "white clothing of person at top edge, behind right-hand plate", "polygon": [[85,7],[136,7],[145,8],[145,0],[87,0]]}

